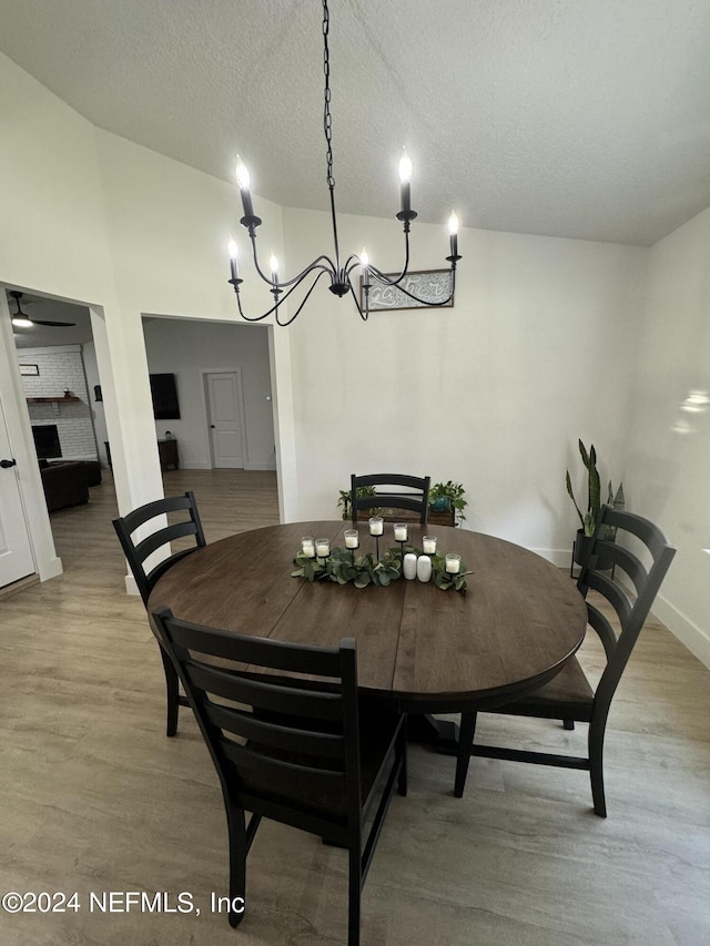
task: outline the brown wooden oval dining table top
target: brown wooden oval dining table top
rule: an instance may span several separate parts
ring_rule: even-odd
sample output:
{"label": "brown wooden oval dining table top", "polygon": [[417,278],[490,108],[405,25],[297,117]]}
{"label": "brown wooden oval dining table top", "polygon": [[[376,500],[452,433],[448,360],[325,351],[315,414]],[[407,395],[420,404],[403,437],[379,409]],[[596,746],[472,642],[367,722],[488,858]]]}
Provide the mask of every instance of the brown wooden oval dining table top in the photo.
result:
{"label": "brown wooden oval dining table top", "polygon": [[[156,583],[149,611],[239,633],[337,647],[357,640],[358,685],[410,712],[456,712],[509,702],[551,679],[585,637],[585,602],[566,571],[493,536],[408,523],[439,552],[459,552],[467,593],[404,578],[386,588],[292,578],[302,536],[345,545],[349,522],[317,521],[241,532],[197,549]],[[359,525],[357,555],[375,551]],[[385,523],[381,552],[396,547]]]}

